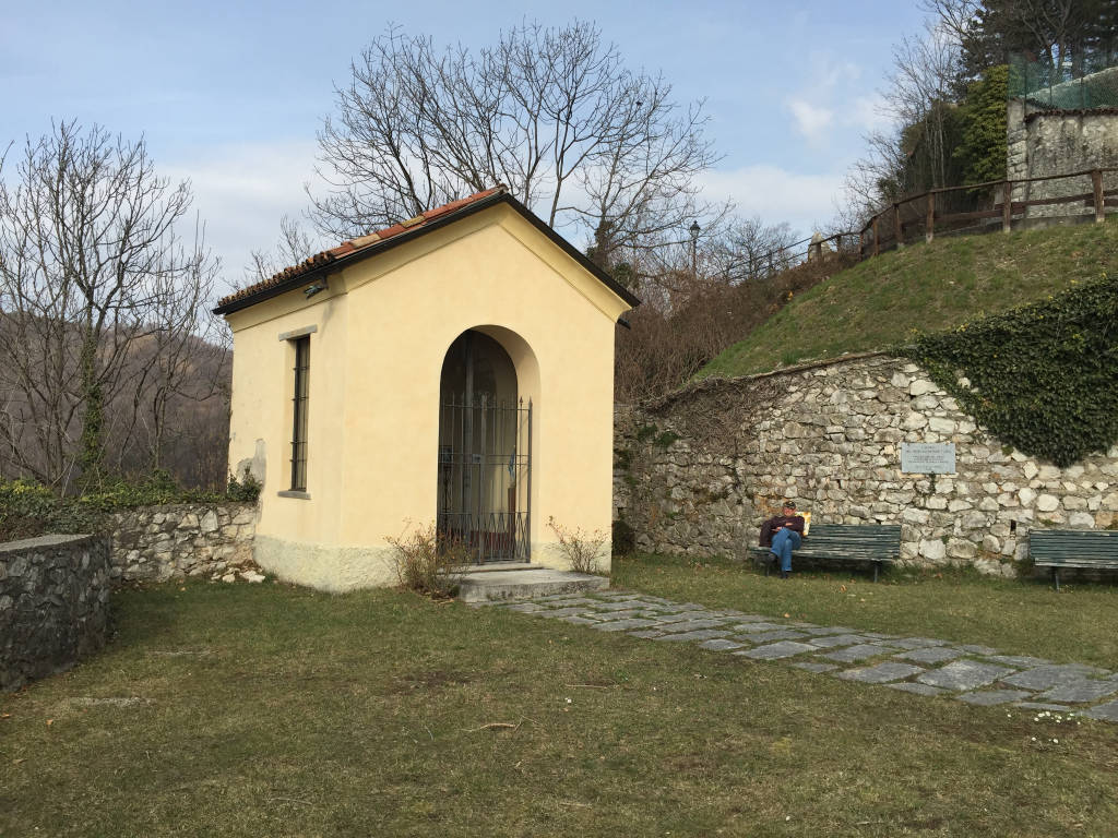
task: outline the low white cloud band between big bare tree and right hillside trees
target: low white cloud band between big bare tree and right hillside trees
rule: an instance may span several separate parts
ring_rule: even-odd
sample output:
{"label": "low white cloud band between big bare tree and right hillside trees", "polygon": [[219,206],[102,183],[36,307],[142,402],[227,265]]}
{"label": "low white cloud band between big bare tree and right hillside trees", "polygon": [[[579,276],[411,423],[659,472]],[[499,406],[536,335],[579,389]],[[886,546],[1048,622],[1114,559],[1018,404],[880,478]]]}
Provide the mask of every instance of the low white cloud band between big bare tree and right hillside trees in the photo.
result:
{"label": "low white cloud band between big bare tree and right hillside trees", "polygon": [[841,174],[806,174],[768,164],[710,171],[702,181],[704,197],[730,199],[738,215],[760,216],[766,223],[787,221],[803,237],[831,219],[842,190]]}

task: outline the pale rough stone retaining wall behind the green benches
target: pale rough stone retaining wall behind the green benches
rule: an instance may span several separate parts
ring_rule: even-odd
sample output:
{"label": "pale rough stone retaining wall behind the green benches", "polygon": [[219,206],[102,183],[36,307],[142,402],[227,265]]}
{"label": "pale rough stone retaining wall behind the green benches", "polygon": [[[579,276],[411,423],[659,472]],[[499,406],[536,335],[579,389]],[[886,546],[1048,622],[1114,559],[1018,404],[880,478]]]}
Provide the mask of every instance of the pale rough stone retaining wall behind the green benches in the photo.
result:
{"label": "pale rough stone retaining wall behind the green benches", "polygon": [[[901,442],[957,472],[902,474]],[[916,364],[882,355],[704,382],[615,421],[615,517],[642,550],[746,555],[781,497],[813,523],[902,525],[901,555],[1014,575],[1040,527],[1118,518],[1118,447],[1070,468],[1003,446]]]}

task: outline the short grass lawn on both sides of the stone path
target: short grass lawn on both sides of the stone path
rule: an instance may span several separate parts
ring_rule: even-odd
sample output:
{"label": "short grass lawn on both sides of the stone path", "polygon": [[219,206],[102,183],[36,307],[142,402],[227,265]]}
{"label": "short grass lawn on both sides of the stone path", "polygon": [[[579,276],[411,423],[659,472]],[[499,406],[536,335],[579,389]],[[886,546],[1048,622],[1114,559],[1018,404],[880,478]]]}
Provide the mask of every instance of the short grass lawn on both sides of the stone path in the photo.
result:
{"label": "short grass lawn on both sides of the stone path", "polygon": [[[871,591],[655,559],[616,575],[712,606],[1116,665],[1112,588]],[[1118,830],[1114,724],[1038,723],[394,591],[188,584],[115,602],[103,654],[0,697],[0,835]]]}

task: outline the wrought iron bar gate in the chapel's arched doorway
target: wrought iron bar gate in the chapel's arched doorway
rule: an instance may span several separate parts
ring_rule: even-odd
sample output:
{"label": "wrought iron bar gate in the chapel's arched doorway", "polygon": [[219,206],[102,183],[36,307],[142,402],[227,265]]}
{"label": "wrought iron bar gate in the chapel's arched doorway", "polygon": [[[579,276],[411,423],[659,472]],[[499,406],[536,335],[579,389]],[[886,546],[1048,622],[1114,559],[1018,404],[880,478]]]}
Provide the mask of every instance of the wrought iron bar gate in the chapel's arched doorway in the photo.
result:
{"label": "wrought iron bar gate in the chapel's arched doorway", "polygon": [[439,416],[440,540],[477,564],[527,562],[530,554],[532,402],[489,393],[444,400]]}

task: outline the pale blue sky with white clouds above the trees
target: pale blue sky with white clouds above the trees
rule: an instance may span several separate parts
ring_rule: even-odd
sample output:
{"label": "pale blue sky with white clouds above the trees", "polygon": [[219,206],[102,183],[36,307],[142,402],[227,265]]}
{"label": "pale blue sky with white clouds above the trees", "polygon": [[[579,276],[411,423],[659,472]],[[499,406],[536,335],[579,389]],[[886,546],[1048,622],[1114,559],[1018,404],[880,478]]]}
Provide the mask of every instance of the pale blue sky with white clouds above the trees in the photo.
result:
{"label": "pale blue sky with white clouds above the trees", "polygon": [[[509,3],[50,2],[0,0],[0,144],[50,121],[146,137],[160,172],[189,178],[227,285],[285,212],[305,207],[315,131],[333,85],[389,22],[482,46],[522,19],[594,20],[632,67],[663,73],[679,102],[707,99],[723,154],[705,178],[741,215],[809,232],[833,213],[892,44],[915,2]],[[312,183],[313,185],[313,183]]]}

